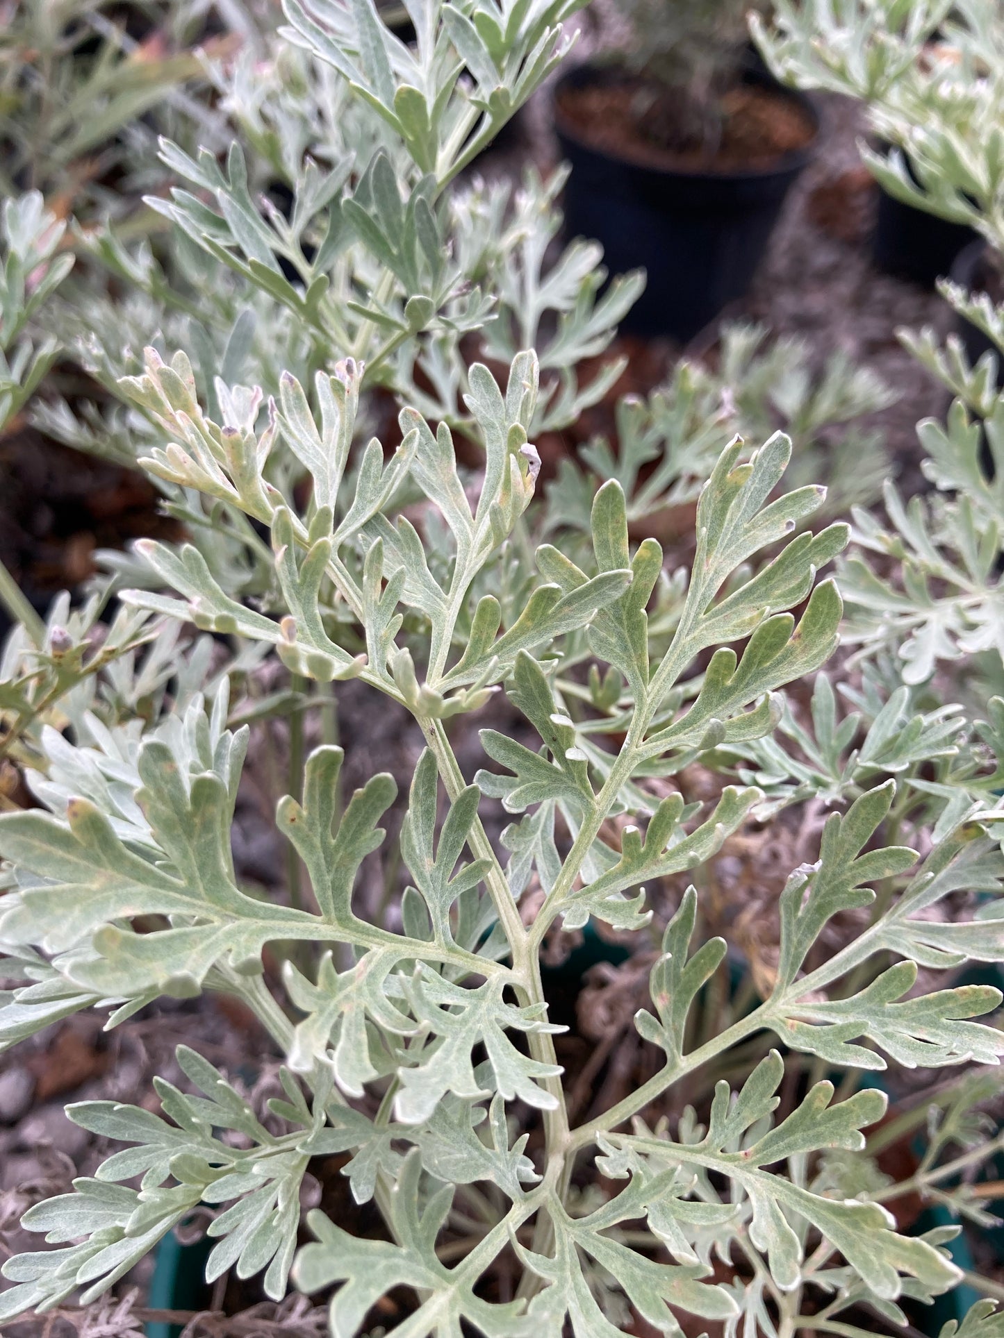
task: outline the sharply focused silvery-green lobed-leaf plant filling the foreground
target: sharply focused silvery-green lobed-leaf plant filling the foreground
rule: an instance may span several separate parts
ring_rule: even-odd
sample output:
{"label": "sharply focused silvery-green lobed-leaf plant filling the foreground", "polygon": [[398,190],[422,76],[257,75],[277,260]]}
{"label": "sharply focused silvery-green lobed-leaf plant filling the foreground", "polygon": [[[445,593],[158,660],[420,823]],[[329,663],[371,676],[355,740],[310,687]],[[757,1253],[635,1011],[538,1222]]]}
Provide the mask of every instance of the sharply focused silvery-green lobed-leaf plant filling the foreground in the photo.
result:
{"label": "sharply focused silvery-green lobed-leaf plant filling the foreground", "polygon": [[[193,1081],[214,1105],[170,1089],[163,1108],[173,1125],[126,1108],[75,1109],[74,1119],[116,1132],[135,1151],[116,1153],[75,1195],[32,1210],[25,1224],[68,1248],[7,1266],[17,1283],[4,1294],[7,1314],[54,1305],[82,1284],[95,1295],[197,1202],[229,1204],[212,1228],[220,1243],[210,1271],[265,1270],[266,1288],[278,1295],[299,1179],[311,1155],[336,1149],[353,1153],[347,1167],[353,1193],[376,1196],[392,1236],[353,1242],[323,1216],[311,1219],[317,1244],[303,1252],[295,1276],[308,1290],[340,1283],[332,1305],[336,1334],[357,1333],[379,1294],[399,1283],[419,1297],[404,1333],[459,1333],[467,1322],[489,1334],[518,1334],[530,1325],[558,1326],[565,1315],[580,1334],[616,1333],[596,1299],[594,1270],[613,1276],[635,1310],[665,1333],[679,1331],[676,1310],[731,1323],[752,1302],[707,1279],[709,1251],[728,1254],[738,1234],[760,1260],[767,1294],[787,1306],[815,1283],[817,1270],[806,1272],[807,1231],[822,1234],[843,1256],[858,1287],[846,1288],[849,1298],[863,1288],[877,1303],[893,1305],[904,1286],[930,1294],[957,1276],[937,1242],[898,1235],[877,1203],[834,1199],[784,1173],[784,1165],[823,1149],[862,1148],[859,1131],[885,1108],[877,1092],[834,1104],[833,1088],[822,1082],[771,1128],[782,1072],[775,1057],[735,1101],[722,1084],[707,1132],[689,1123],[672,1141],[659,1129],[622,1131],[723,1046],[764,1030],[838,1066],[882,1068],[885,1056],[929,1066],[996,1061],[999,1033],[971,1020],[992,1010],[999,991],[957,986],[916,995],[912,986],[917,965],[1004,955],[995,918],[1004,870],[992,840],[963,832],[949,834],[920,866],[914,850],[875,846],[894,783],[867,789],[830,818],[819,863],[795,871],[782,898],[772,993],[731,1033],[697,1049],[688,1041],[687,1017],[722,969],[726,949],[711,939],[691,955],[696,896],[688,892],[653,971],[655,1012],[637,1020],[641,1036],[663,1049],[664,1068],[605,1116],[568,1128],[554,1029],[537,975],[541,942],[556,922],[576,926],[590,915],[621,929],[644,926],[651,915],[644,884],[707,862],[762,800],[754,787],[726,789],[699,812],[673,792],[657,799],[647,781],[676,775],[711,740],[736,743],[771,731],[778,719],[772,694],[817,669],[835,644],[839,597],[829,581],[813,590],[813,578],[839,551],[846,531],[839,524],[818,534],[802,529],[786,542],[818,507],[819,490],[771,500],[790,455],[787,440],[774,438],[747,463],[735,444],[701,494],[697,551],[665,653],[649,656],[645,615],[659,546],[645,541],[632,555],[616,482],[596,496],[588,570],[542,545],[539,575],[503,606],[498,594],[481,590],[493,583],[533,492],[525,424],[534,411],[535,363],[521,355],[505,392],[483,368],[473,368],[470,380],[467,407],[485,447],[477,495],[461,486],[448,429],[434,434],[407,411],[396,458],[384,462],[371,448],[345,479],[355,411],[349,367],[319,381],[316,411],[288,379],[284,403],[261,431],[212,423],[191,397],[183,359],[169,365],[151,357],[147,376],[131,389],[151,412],[170,417],[179,438],[151,460],[153,468],[225,495],[269,526],[276,582],[289,611],[280,621],[253,613],[221,590],[195,550],[174,554],[157,545],[143,551],[175,593],[123,598],[265,641],[305,677],[360,677],[403,702],[428,743],[400,843],[414,886],[400,930],[359,917],[356,876],[382,842],[379,823],[395,785],[373,776],[336,812],[341,755],[321,747],[307,761],[301,797],[282,800],[277,814],[308,870],[312,907],[241,890],[229,826],[246,731],[226,728],[225,685],[212,709],[193,698],[135,737],[115,767],[114,785],[99,783],[107,775],[100,744],[66,745],[66,760],[54,752],[54,781],[41,792],[51,811],[0,820],[19,880],[4,898],[0,935],[35,982],[8,1005],[12,1029],[24,1034],[32,1008],[44,1022],[106,1001],[115,1005],[114,1024],[159,993],[234,993],[286,1049],[290,1104],[278,1113],[296,1128],[277,1140],[262,1133],[207,1066]],[[262,476],[265,447],[277,432],[286,434],[313,479],[307,511]],[[440,514],[448,562],[395,510],[398,472]],[[764,547],[774,557],[759,557]],[[810,591],[795,625],[786,610]],[[327,610],[337,606],[344,610],[332,621]],[[344,622],[359,626],[365,654],[348,654],[329,634]],[[584,625],[590,657],[622,682],[617,709],[626,737],[618,751],[580,736],[568,713],[562,646],[574,645]],[[748,640],[738,658],[727,642],[742,637]],[[680,686],[691,680],[695,657],[709,649],[708,668],[681,709]],[[534,752],[485,733],[490,765],[475,785],[465,785],[443,721],[477,709],[497,684],[543,747]],[[440,785],[448,797],[442,827]],[[482,793],[498,795],[514,815],[503,838],[513,851],[507,867],[482,827]],[[605,823],[613,814],[644,824],[644,835],[639,826],[622,826],[620,848],[612,846]],[[574,834],[570,847],[557,843],[558,815]],[[530,870],[545,896],[526,927],[518,898]],[[889,879],[897,894],[888,910],[829,961],[810,966],[813,945],[833,917],[867,906],[869,884]],[[977,917],[932,918],[930,909],[961,887],[989,894]],[[162,927],[150,929],[150,917],[161,917]],[[138,933],[137,918],[149,931]],[[288,967],[288,997],[301,1016],[290,1029],[266,989],[261,950],[296,939],[331,945],[344,965],[325,957],[307,974]],[[344,961],[347,947],[352,957]],[[859,982],[865,963],[881,967],[890,958],[893,965],[867,971],[863,985],[827,997],[837,982]],[[517,1036],[526,1048],[514,1044]],[[182,1062],[201,1061],[187,1056]],[[297,1080],[313,1093],[309,1103]],[[365,1113],[372,1090],[387,1096],[376,1120]],[[511,1141],[510,1120],[519,1109],[543,1119],[549,1152],[539,1164],[523,1152],[525,1136]],[[236,1157],[210,1132],[220,1127],[242,1129],[252,1151]],[[628,1185],[585,1216],[570,1215],[565,1176],[573,1157],[594,1152],[598,1168]],[[138,1192],[118,1188],[120,1177],[141,1171]],[[731,1181],[726,1200],[707,1172]],[[486,1180],[503,1196],[497,1222],[458,1264],[443,1264],[435,1242],[454,1195]],[[618,1240],[618,1223],[639,1218],[675,1262],[656,1262]],[[72,1243],[82,1220],[95,1219],[96,1231]],[[530,1223],[531,1239],[521,1238]],[[489,1303],[477,1282],[510,1240],[526,1284],[518,1301]],[[819,1282],[830,1286],[825,1275]]]}

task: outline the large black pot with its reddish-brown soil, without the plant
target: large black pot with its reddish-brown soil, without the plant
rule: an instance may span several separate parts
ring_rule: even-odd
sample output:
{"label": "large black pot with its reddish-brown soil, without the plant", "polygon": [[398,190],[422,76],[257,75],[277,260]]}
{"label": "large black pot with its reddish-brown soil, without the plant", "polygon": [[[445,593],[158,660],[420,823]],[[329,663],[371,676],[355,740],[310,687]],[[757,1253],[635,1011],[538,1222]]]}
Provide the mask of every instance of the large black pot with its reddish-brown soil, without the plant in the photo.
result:
{"label": "large black pot with its reddish-brown soil, without the plant", "polygon": [[600,241],[612,274],[648,272],[624,328],[685,343],[747,293],[818,118],[759,71],[723,96],[712,146],[673,136],[668,106],[640,78],[584,66],[557,86],[556,130],[566,231]]}

